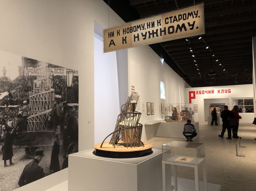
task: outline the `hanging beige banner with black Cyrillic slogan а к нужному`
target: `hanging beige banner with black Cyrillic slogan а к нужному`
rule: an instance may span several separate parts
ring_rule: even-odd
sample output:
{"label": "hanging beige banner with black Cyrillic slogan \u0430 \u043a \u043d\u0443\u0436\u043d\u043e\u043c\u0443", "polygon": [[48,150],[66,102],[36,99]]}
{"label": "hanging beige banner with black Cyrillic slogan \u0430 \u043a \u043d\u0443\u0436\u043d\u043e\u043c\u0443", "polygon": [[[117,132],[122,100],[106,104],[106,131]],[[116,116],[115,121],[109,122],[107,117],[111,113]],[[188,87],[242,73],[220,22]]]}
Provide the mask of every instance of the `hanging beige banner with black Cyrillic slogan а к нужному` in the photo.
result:
{"label": "hanging beige banner with black Cyrillic slogan \u0430 \u043a \u043d\u0443\u0436\u043d\u043e\u043c\u0443", "polygon": [[105,29],[104,52],[204,33],[204,4],[199,4]]}

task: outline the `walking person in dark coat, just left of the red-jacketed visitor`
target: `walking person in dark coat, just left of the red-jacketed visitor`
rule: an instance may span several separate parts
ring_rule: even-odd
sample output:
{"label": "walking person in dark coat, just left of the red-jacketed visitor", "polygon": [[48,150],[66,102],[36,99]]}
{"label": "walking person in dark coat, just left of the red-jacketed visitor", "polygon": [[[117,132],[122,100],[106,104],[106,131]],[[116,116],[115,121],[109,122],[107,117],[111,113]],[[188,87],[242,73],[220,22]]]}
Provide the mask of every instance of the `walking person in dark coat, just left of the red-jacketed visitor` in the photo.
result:
{"label": "walking person in dark coat, just left of the red-jacketed visitor", "polygon": [[228,110],[228,106],[227,105],[224,106],[224,110],[220,114],[220,117],[222,118],[222,132],[220,133],[219,137],[223,138],[224,133],[225,133],[225,131],[227,129],[228,130],[228,137],[227,137],[227,139],[231,140],[232,139],[231,138],[232,127],[230,125],[229,118],[233,118],[233,113],[230,110]]}

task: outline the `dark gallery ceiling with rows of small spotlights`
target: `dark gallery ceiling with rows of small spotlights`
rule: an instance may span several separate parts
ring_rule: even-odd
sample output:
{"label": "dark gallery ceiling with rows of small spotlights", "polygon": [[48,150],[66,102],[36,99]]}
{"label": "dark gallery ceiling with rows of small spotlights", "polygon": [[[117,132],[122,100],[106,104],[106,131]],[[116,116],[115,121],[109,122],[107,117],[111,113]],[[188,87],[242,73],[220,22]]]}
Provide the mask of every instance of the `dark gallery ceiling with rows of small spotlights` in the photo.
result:
{"label": "dark gallery ceiling with rows of small spotlights", "polygon": [[201,39],[182,38],[150,47],[191,87],[252,83],[256,0],[104,1],[125,22],[204,2],[205,34]]}

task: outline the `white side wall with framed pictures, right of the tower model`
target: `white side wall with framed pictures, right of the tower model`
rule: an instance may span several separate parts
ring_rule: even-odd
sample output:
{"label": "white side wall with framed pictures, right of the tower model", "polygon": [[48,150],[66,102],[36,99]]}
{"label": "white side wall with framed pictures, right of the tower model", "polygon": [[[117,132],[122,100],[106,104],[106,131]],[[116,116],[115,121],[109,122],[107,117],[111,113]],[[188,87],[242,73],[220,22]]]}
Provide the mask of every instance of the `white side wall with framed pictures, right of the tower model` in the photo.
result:
{"label": "white side wall with framed pictures, right of the tower model", "polygon": [[[161,103],[185,102],[186,82],[174,72],[170,66],[160,60],[160,57],[149,47],[140,46],[128,49],[128,78],[129,94],[134,86],[135,92],[140,95],[137,111],[142,112],[140,123],[161,119]],[[165,83],[165,98],[160,98],[160,81]],[[154,103],[154,115],[146,115],[146,102]],[[144,109],[143,109],[144,105]],[[146,141],[145,126],[143,127],[142,141]]]}

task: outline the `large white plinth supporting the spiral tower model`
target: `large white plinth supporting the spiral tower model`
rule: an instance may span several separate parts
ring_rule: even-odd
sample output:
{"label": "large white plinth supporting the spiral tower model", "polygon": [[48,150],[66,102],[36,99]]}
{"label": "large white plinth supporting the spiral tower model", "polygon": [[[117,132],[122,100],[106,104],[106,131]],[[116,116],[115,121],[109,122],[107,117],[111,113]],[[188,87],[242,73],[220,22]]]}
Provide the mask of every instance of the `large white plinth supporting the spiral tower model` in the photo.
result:
{"label": "large white plinth supporting the spiral tower model", "polygon": [[[94,149],[69,155],[70,191],[161,191],[162,149],[140,158],[98,157]],[[170,178],[170,175],[169,175]]]}

